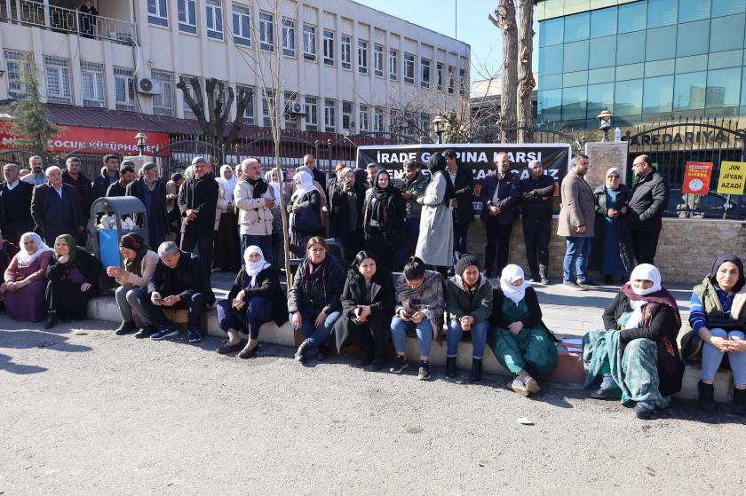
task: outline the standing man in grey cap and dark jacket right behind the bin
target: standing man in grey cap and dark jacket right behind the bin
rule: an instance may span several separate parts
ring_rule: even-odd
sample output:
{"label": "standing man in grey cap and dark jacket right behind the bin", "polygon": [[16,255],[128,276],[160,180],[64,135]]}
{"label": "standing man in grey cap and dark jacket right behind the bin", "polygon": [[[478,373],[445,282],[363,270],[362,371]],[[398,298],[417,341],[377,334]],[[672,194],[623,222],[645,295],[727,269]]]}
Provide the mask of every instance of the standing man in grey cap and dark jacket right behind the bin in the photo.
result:
{"label": "standing man in grey cap and dark jacket right behind the bin", "polygon": [[[147,243],[152,247],[161,246],[169,230],[166,209],[166,185],[158,180],[158,167],[152,161],[142,166],[142,177],[127,185],[127,196],[142,201],[147,213]],[[142,215],[138,214],[135,224],[142,227]]]}

